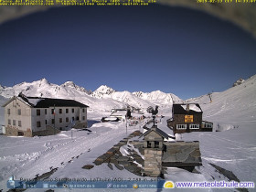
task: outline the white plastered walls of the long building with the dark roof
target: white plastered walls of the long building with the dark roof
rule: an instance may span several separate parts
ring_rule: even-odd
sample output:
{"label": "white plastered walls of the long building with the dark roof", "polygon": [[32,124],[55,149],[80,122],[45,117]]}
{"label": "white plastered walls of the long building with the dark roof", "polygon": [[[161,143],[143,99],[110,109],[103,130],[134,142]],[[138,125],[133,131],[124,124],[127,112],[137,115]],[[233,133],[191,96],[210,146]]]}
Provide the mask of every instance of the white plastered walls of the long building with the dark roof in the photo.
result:
{"label": "white plastered walls of the long building with the dark roof", "polygon": [[[8,109],[10,109],[10,114],[8,114]],[[18,109],[21,110],[21,115],[18,115]],[[54,107],[30,108],[23,101],[15,99],[5,106],[5,127],[8,126],[8,120],[11,120],[11,124],[9,126],[13,128],[22,131],[32,129],[33,132],[37,132],[46,130],[46,125],[55,125],[58,129],[64,129],[71,125],[72,119],[74,119],[74,121],[80,120],[80,123],[87,122],[87,108],[56,107],[55,115],[52,114],[52,109],[54,109]],[[59,109],[62,109],[62,113],[59,113]],[[66,112],[66,109],[68,109],[69,112]],[[72,109],[74,109],[74,112],[72,112]],[[37,115],[37,110],[40,110],[40,115]],[[62,123],[59,122],[60,118],[62,119]],[[69,118],[68,122],[66,122],[66,118]],[[55,119],[55,124],[52,123],[52,119]],[[16,125],[13,124],[13,120],[16,120]],[[21,121],[21,126],[18,126],[18,121]],[[37,127],[37,122],[40,122],[39,127]]]}

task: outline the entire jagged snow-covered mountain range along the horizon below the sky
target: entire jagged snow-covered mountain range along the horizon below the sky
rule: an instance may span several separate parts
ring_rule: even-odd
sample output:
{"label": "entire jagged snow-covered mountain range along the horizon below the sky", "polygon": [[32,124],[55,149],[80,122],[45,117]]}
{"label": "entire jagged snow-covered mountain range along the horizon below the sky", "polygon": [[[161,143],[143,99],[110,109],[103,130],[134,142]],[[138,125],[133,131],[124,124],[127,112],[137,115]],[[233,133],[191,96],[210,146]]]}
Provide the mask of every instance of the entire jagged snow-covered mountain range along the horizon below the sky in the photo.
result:
{"label": "entire jagged snow-covered mountain range along the horizon below the sky", "polygon": [[138,95],[129,91],[114,91],[106,85],[101,85],[96,91],[91,92],[76,85],[73,81],[57,85],[46,79],[22,82],[14,87],[1,87],[0,89],[0,95],[5,98],[11,98],[20,92],[34,97],[73,99],[90,106],[91,110],[95,111],[110,111],[113,108],[125,108],[126,106],[145,111],[151,105],[165,105],[170,108],[173,100],[181,101],[176,95],[161,91],[141,92]]}

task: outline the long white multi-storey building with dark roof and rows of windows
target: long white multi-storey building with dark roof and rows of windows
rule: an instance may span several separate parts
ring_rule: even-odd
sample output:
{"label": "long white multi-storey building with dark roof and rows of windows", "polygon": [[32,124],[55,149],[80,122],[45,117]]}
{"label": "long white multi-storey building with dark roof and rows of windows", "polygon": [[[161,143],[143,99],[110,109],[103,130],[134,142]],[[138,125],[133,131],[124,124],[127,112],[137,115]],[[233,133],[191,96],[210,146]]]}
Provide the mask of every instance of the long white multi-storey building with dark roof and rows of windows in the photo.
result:
{"label": "long white multi-storey building with dark roof and rows of windows", "polygon": [[79,101],[19,94],[2,107],[6,135],[49,135],[69,127],[87,127],[88,106]]}

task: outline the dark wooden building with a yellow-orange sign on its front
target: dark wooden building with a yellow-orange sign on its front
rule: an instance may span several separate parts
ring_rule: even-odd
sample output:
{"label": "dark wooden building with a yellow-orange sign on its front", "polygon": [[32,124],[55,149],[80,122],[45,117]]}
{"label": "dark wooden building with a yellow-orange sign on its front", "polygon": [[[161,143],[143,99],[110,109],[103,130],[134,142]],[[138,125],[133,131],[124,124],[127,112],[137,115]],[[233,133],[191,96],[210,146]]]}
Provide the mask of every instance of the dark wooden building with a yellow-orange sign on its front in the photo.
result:
{"label": "dark wooden building with a yellow-orange sign on its front", "polygon": [[202,121],[203,111],[197,103],[173,104],[173,118],[168,127],[176,133],[212,132],[212,123]]}

